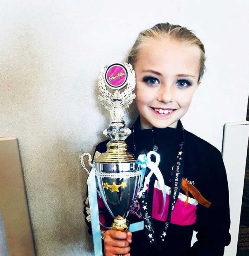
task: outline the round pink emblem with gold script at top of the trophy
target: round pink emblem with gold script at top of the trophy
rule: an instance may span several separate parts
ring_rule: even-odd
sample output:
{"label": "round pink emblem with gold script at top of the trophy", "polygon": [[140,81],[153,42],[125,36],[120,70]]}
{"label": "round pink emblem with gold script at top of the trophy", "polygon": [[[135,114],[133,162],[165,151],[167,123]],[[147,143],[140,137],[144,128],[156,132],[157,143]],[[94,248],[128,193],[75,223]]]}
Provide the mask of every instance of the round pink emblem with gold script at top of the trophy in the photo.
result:
{"label": "round pink emblem with gold script at top of the trophy", "polygon": [[112,64],[105,73],[105,80],[112,89],[121,89],[127,80],[127,70],[121,64]]}

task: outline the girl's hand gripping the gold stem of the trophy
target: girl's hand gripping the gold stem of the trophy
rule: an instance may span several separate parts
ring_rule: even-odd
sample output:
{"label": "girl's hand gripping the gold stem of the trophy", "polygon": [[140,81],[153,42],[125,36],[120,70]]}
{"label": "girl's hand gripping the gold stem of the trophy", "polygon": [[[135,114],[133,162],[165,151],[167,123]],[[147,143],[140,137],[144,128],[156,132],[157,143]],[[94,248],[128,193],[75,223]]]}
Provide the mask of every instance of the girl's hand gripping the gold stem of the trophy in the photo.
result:
{"label": "girl's hand gripping the gold stem of the trophy", "polygon": [[109,229],[105,232],[104,237],[104,252],[105,256],[116,256],[123,254],[123,256],[130,256],[129,251],[131,247],[131,232],[121,232]]}

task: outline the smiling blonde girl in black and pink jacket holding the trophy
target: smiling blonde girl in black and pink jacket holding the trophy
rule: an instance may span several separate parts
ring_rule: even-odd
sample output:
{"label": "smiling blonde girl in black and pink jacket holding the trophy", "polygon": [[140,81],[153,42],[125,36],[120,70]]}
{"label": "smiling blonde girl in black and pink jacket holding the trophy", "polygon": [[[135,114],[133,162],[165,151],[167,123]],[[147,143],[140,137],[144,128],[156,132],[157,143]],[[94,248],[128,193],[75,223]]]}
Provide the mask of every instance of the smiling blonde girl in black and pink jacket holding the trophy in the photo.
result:
{"label": "smiling blonde girl in black and pink jacket holding the trophy", "polygon": [[[185,27],[161,23],[138,35],[127,62],[136,73],[140,115],[126,141],[129,150],[137,155],[151,150],[160,154],[166,205],[161,215],[162,188],[153,175],[147,201],[136,200],[128,217],[131,223],[144,220],[144,229],[131,234],[101,227],[105,231],[104,253],[106,256],[223,255],[224,247],[230,243],[230,215],[222,156],[214,146],[183,129],[180,121],[201,83],[204,46]],[[204,124],[196,120],[196,125]],[[107,142],[97,145],[95,158],[106,151]],[[182,150],[179,144],[184,145]],[[172,170],[182,154],[185,160],[179,172],[181,190],[174,200]],[[100,198],[98,206],[100,221],[110,226],[112,218]],[[148,209],[151,216],[145,216],[143,209]],[[91,233],[88,199],[84,213]],[[193,230],[197,231],[198,240],[191,247]]]}

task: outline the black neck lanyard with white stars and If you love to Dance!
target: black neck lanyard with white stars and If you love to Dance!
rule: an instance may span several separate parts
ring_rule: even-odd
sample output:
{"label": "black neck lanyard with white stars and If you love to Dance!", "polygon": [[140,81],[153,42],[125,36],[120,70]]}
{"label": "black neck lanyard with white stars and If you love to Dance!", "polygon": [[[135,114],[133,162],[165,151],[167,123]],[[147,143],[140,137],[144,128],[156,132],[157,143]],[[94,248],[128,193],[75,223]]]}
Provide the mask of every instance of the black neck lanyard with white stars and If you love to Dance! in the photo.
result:
{"label": "black neck lanyard with white stars and If you love to Dance!", "polygon": [[[133,138],[134,138],[134,129],[133,129]],[[172,172],[169,213],[168,213],[167,220],[165,221],[165,224],[159,235],[160,242],[164,242],[166,240],[165,236],[167,235],[168,227],[170,225],[170,218],[172,215],[172,211],[175,207],[175,204],[181,189],[181,180],[183,176],[184,157],[185,157],[184,144],[185,144],[184,128],[182,127],[181,143],[179,144],[179,147],[178,147],[177,156],[175,159],[175,165],[173,167],[173,172]],[[136,150],[134,140],[133,140],[133,145],[134,145],[134,149]],[[144,181],[143,181],[143,184],[144,184]],[[143,185],[142,185],[142,188],[143,188]],[[144,230],[146,233],[146,237],[151,244],[157,245],[156,234],[154,231],[155,230],[154,223],[153,223],[152,214],[151,214],[152,208],[149,204],[148,192],[145,191],[144,193],[142,193],[142,196],[141,198],[138,198],[138,201],[140,204],[142,218],[144,220]]]}

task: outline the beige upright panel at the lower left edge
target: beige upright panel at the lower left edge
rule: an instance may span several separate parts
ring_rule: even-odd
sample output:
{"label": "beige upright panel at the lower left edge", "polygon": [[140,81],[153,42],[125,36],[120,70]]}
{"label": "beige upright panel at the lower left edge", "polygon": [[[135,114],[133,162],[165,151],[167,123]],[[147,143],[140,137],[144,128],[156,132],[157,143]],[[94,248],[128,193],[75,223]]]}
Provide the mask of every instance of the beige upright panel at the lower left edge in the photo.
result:
{"label": "beige upright panel at the lower left edge", "polygon": [[0,208],[9,256],[34,256],[32,230],[16,138],[0,138]]}

